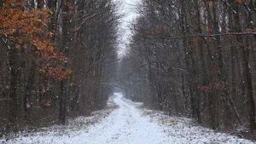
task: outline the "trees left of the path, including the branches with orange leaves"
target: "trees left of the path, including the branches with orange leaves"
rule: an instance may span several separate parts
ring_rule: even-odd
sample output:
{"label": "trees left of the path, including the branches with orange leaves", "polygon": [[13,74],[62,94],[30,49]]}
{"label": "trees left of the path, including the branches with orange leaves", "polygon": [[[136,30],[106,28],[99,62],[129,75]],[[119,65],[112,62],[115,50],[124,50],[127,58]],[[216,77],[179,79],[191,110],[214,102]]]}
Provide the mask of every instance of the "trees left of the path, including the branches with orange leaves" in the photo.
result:
{"label": "trees left of the path, including the branches with orange leaves", "polygon": [[1,131],[65,124],[105,107],[115,11],[108,0],[0,2]]}

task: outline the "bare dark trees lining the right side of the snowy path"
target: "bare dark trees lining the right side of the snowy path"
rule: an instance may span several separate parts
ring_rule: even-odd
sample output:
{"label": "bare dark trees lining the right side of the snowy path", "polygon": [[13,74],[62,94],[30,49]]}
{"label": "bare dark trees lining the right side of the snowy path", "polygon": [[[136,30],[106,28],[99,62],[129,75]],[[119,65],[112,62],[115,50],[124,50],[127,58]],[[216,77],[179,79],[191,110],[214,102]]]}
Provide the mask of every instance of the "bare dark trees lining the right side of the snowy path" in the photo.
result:
{"label": "bare dark trees lining the right side of the snowy path", "polygon": [[255,130],[256,2],[142,3],[123,60],[126,95],[214,130]]}

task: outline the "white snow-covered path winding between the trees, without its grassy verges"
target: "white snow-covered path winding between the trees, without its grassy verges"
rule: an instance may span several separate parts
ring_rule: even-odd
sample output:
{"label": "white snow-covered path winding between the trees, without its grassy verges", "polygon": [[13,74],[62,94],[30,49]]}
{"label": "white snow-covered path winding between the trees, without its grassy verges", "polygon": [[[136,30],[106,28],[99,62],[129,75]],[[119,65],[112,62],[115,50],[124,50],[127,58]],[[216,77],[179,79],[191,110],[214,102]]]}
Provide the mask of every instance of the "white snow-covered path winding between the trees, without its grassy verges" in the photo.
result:
{"label": "white snow-covered path winding between the trees, without its grassy verges", "polygon": [[96,133],[91,133],[89,143],[160,143],[166,134],[157,124],[141,117],[137,108],[122,100],[117,94],[113,101],[119,108],[112,112],[104,124],[98,125]]}

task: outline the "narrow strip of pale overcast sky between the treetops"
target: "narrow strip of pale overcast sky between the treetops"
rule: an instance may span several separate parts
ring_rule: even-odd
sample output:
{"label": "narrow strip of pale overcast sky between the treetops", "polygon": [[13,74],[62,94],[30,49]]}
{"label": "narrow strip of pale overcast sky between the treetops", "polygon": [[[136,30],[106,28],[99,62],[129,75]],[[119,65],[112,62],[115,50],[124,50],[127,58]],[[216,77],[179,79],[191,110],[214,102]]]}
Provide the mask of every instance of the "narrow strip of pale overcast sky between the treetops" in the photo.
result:
{"label": "narrow strip of pale overcast sky between the treetops", "polygon": [[113,0],[115,3],[121,3],[119,6],[119,14],[124,14],[121,20],[121,25],[119,28],[119,57],[125,55],[128,50],[129,39],[131,39],[131,21],[136,19],[138,14],[136,14],[136,7],[140,0]]}

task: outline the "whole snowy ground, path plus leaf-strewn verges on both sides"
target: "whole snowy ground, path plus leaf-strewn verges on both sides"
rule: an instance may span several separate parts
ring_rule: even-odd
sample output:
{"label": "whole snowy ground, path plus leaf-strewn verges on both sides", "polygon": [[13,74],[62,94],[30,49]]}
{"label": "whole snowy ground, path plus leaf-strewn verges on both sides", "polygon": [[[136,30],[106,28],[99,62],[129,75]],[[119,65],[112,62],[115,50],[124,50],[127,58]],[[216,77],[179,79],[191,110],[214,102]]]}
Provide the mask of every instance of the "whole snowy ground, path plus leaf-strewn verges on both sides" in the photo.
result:
{"label": "whole snowy ground, path plus leaf-strewn verges on both sides", "polygon": [[90,117],[70,119],[37,132],[20,132],[0,143],[88,143],[88,144],[170,144],[170,143],[254,143],[234,135],[198,126],[189,118],[176,118],[148,110],[142,103],[126,100],[116,93],[108,108]]}

